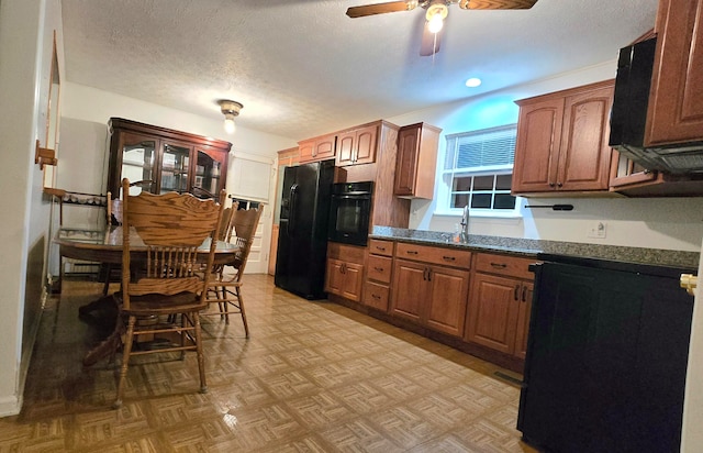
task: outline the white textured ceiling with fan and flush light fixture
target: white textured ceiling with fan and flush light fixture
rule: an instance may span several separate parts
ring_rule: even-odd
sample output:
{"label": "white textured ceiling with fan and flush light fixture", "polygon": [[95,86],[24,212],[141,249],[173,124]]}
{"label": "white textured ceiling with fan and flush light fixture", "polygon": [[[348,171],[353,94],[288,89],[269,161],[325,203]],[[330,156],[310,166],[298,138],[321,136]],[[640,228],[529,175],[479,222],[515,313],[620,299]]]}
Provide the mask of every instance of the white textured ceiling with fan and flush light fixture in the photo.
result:
{"label": "white textured ceiling with fan and flush light fixture", "polygon": [[[421,57],[424,10],[349,19],[381,0],[63,0],[67,80],[301,140],[613,60],[657,0],[449,7]],[[483,79],[468,89],[469,76]]]}

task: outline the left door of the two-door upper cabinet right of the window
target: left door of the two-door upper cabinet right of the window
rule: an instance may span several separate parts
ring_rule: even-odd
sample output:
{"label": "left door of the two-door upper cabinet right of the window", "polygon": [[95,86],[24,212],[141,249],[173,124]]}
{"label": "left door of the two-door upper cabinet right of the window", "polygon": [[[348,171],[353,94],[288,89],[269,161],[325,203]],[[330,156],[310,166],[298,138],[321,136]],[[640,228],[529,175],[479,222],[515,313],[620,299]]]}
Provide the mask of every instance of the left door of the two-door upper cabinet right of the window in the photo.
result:
{"label": "left door of the two-door upper cabinet right of the window", "polygon": [[513,194],[553,191],[557,186],[563,98],[521,104],[513,165]]}

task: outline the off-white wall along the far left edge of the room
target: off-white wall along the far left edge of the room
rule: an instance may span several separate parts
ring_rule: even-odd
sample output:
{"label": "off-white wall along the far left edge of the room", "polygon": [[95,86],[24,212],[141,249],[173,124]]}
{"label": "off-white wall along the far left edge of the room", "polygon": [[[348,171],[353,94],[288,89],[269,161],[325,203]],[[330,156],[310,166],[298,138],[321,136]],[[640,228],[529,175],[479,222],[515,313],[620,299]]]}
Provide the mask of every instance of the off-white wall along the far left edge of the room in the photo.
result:
{"label": "off-white wall along the far left edge of the room", "polygon": [[[22,407],[38,322],[38,316],[27,319],[25,312],[27,307],[41,308],[49,209],[42,198],[43,174],[34,164],[34,148],[37,139],[42,144],[45,140],[54,30],[60,40],[59,0],[0,1],[0,211],[4,213],[0,231],[0,416],[18,413]],[[60,66],[62,56],[59,53]],[[25,323],[27,320],[31,322]]]}

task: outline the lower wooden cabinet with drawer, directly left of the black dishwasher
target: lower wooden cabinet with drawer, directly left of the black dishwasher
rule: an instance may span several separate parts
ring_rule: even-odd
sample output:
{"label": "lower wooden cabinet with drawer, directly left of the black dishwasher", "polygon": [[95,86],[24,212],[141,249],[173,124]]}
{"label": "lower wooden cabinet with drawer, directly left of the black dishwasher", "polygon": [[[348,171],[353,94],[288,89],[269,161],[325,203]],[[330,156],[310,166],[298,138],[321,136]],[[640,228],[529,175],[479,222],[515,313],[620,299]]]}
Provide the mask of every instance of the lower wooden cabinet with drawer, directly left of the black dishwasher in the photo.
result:
{"label": "lower wooden cabinet with drawer, directly left of the black dishwasher", "polygon": [[465,339],[525,358],[534,259],[480,253],[471,283]]}

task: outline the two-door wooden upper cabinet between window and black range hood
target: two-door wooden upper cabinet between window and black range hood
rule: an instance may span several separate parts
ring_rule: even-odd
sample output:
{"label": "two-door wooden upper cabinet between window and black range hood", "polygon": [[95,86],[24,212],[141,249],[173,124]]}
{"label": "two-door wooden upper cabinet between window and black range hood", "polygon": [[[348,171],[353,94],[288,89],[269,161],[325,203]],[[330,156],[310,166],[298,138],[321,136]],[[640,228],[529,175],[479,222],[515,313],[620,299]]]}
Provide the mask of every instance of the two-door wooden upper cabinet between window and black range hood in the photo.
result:
{"label": "two-door wooden upper cabinet between window and black range hood", "polygon": [[607,191],[613,87],[606,80],[517,101],[513,194]]}

